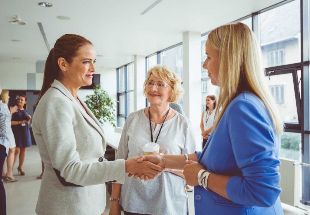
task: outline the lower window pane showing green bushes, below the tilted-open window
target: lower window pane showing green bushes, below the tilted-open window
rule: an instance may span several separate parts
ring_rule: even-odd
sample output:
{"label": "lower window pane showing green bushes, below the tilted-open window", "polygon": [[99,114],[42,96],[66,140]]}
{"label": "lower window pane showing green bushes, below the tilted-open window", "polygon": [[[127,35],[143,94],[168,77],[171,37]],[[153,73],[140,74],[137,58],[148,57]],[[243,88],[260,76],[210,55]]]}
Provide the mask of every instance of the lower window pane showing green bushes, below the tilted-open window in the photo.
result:
{"label": "lower window pane showing green bushes, below the tilted-open window", "polygon": [[301,134],[284,132],[281,135],[280,157],[301,161]]}

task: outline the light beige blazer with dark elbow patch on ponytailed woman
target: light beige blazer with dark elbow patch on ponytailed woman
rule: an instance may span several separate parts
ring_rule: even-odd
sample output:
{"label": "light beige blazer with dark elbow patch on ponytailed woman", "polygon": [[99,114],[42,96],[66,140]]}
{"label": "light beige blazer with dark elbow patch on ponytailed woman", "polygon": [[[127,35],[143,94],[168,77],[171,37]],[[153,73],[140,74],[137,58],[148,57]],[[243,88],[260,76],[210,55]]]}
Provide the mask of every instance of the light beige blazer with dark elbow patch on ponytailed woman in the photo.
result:
{"label": "light beige blazer with dark elbow patch on ponytailed woman", "polygon": [[103,129],[80,102],[87,113],[54,80],[33,114],[33,135],[45,164],[37,214],[101,214],[106,204],[104,183],[125,181],[125,161],[103,160]]}

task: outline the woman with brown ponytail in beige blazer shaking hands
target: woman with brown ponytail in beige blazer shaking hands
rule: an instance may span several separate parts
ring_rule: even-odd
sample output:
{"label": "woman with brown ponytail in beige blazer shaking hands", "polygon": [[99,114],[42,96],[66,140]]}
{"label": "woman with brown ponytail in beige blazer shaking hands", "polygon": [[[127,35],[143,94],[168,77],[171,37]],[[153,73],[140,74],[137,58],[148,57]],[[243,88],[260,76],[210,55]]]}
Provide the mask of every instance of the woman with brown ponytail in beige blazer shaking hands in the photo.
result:
{"label": "woman with brown ponytail in beige blazer shaking hands", "polygon": [[33,135],[45,169],[37,214],[102,214],[105,183],[125,181],[126,173],[155,178],[163,171],[138,158],[106,161],[99,121],[77,96],[92,84],[96,52],[76,34],[57,39],[45,62],[42,89],[33,115]]}

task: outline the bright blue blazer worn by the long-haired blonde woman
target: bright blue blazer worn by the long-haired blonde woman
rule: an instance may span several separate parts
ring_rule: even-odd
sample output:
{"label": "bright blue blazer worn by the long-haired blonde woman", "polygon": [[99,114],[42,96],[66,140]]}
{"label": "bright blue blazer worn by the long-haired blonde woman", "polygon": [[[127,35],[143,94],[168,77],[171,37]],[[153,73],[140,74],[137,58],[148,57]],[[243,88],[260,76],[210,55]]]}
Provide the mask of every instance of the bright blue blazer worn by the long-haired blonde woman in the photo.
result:
{"label": "bright blue blazer worn by the long-haired blonde woman", "polygon": [[195,214],[283,214],[279,194],[280,136],[261,99],[241,93],[228,105],[198,162],[207,170],[232,176],[229,199],[194,188]]}

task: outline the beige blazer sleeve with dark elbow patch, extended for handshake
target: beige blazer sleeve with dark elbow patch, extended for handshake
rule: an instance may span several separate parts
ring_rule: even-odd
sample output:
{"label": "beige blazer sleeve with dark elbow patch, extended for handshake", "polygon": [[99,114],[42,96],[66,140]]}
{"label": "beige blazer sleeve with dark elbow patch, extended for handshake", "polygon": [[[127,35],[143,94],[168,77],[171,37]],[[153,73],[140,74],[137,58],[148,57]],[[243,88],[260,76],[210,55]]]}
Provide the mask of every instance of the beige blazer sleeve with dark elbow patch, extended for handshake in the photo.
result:
{"label": "beige blazer sleeve with dark elbow patch, extended for handshake", "polygon": [[[87,186],[108,181],[124,183],[125,161],[86,163],[76,151],[73,108],[68,98],[47,101],[40,114],[39,129],[47,147],[52,167],[65,186]],[[115,181],[114,181],[115,180]]]}

